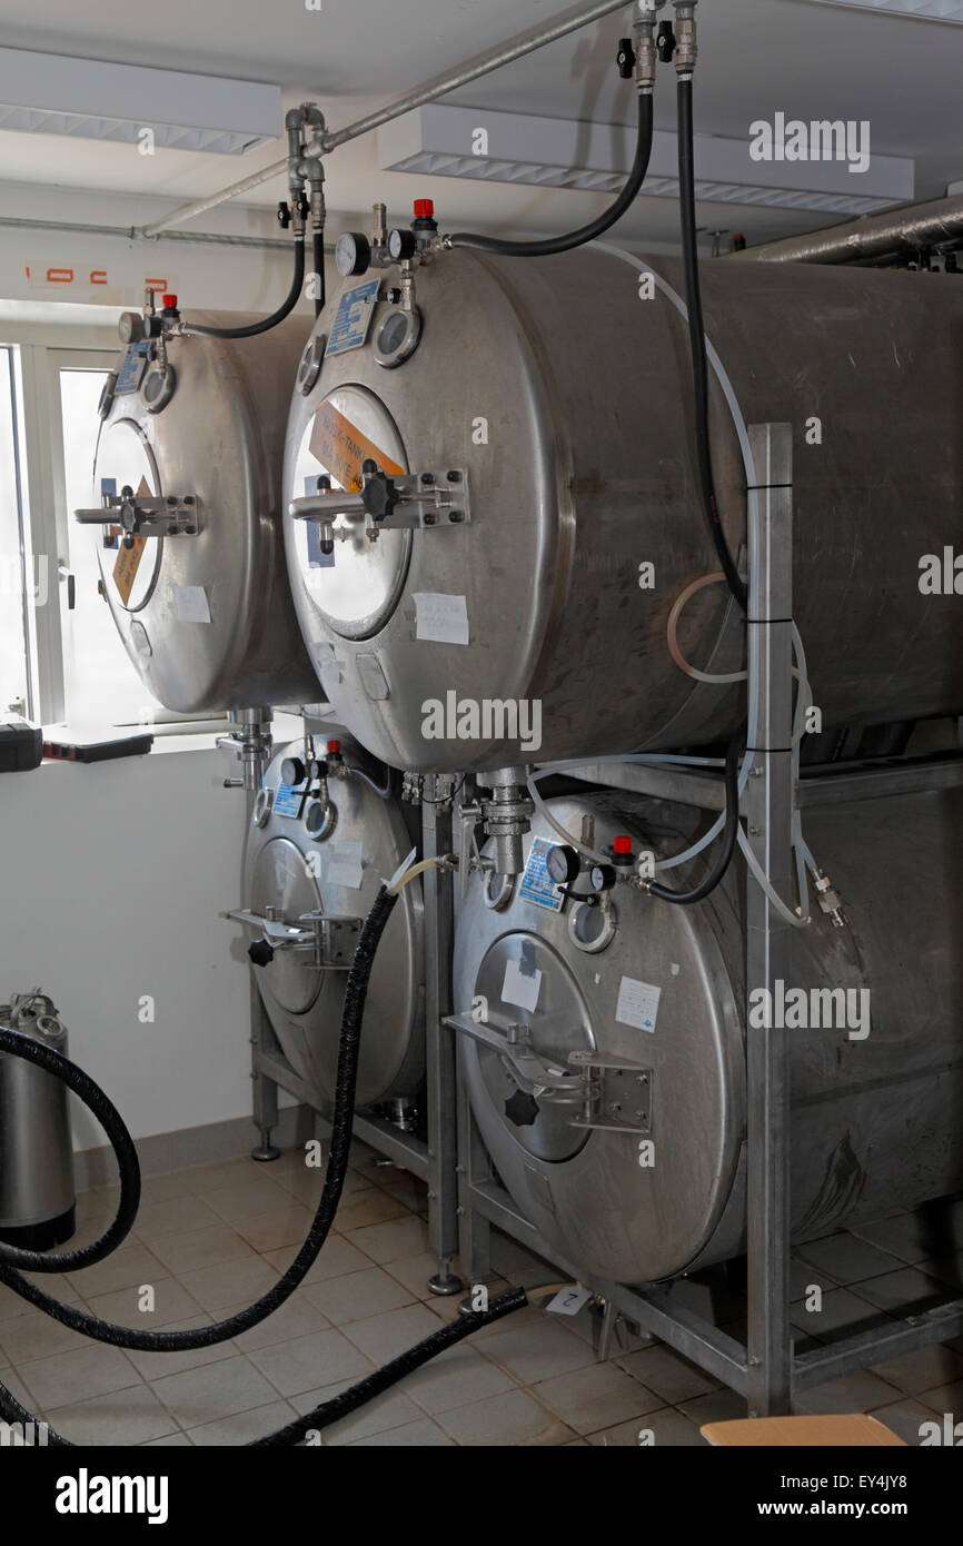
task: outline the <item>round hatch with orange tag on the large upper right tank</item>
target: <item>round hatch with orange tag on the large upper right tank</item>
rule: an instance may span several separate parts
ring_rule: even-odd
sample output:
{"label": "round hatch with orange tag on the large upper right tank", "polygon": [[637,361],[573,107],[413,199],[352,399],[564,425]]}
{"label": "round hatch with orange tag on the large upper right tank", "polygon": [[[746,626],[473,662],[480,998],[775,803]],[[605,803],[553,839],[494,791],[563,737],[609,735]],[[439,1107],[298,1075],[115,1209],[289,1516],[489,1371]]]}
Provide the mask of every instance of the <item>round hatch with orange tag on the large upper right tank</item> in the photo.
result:
{"label": "round hatch with orange tag on the large upper right tank", "polygon": [[[405,447],[385,405],[363,386],[339,386],[312,413],[295,462],[292,498],[317,493],[318,476],[332,489],[357,492],[362,462],[371,458],[391,475],[408,472]],[[362,521],[339,515],[331,523],[348,530],[335,535],[334,553],[320,550],[315,521],[294,523],[294,543],[305,587],[322,617],[343,638],[369,638],[385,626],[399,603],[411,532],[382,532],[369,543]]]}

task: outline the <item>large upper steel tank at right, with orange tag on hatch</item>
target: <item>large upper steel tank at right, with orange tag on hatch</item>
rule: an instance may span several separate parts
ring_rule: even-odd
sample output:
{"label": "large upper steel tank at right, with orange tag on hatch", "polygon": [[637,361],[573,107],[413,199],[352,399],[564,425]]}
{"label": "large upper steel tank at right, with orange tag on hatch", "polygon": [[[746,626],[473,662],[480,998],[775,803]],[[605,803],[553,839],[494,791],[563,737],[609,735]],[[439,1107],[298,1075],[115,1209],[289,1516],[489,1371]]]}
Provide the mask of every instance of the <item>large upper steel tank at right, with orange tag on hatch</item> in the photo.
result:
{"label": "large upper steel tank at right, with orange tag on hatch", "polygon": [[[744,717],[742,688],[691,680],[666,649],[674,600],[719,564],[696,482],[686,325],[669,294],[683,295],[680,264],[652,267],[663,288],[641,298],[640,272],[614,250],[441,254],[416,271],[424,332],[408,359],[379,363],[403,337],[382,300],[363,346],[328,354],[308,396],[295,391],[286,504],[318,476],[337,489],[362,456],[388,473],[465,475],[464,519],[442,512],[376,543],[356,524],[332,555],[317,526],[286,516],[325,691],[394,767],[692,745]],[[385,271],[382,294],[397,281]],[[315,339],[369,283],[332,292]],[[795,612],[824,724],[961,711],[958,598],[924,597],[918,580],[921,557],[960,536],[963,472],[948,447],[963,416],[963,289],[935,275],[706,263],[703,292],[744,422],[795,427]],[[739,549],[745,472],[714,373],[711,425]],[[648,563],[654,587],[640,584]],[[744,623],[723,586],[692,597],[679,642],[702,669],[742,666]],[[451,703],[451,725],[465,702],[526,699],[541,703],[538,747],[499,734],[501,719],[471,737],[424,733],[428,703]]]}

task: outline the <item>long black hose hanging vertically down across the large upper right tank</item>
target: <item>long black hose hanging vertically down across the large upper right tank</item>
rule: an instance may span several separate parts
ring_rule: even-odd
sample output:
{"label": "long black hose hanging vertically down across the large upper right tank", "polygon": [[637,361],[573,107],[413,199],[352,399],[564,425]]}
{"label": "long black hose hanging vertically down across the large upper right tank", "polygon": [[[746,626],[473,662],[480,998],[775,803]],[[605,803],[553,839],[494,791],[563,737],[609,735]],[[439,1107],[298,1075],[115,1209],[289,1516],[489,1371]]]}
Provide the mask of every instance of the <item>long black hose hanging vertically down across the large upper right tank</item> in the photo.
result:
{"label": "long black hose hanging vertically down across the large upper right tank", "polygon": [[699,247],[696,241],[696,165],[692,150],[692,82],[679,82],[679,212],[682,216],[682,258],[685,267],[686,308],[689,314],[689,349],[692,356],[692,386],[696,397],[696,451],[699,459],[699,482],[702,502],[709,526],[709,535],[719,555],[722,572],[736,601],[745,612],[748,592],[739,575],[730,544],[722,530],[716,478],[713,475],[713,450],[709,441],[709,373],[705,352],[705,326],[702,320],[702,292],[699,288]]}

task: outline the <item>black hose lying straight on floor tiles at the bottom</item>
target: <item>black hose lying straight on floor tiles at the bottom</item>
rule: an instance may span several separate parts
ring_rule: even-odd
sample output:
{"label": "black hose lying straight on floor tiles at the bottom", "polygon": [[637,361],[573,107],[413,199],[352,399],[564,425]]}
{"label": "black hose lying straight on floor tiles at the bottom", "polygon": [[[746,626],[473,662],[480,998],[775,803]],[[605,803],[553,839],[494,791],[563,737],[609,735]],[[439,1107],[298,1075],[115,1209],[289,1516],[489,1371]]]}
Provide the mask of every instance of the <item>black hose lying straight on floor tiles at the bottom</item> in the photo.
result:
{"label": "black hose lying straight on floor tiles at the bottom", "polygon": [[[391,1359],[383,1368],[376,1368],[373,1374],[366,1374],[365,1379],[359,1379],[357,1385],[351,1385],[349,1390],[343,1390],[340,1396],[332,1396],[329,1401],[323,1401],[320,1407],[309,1411],[305,1418],[298,1418],[295,1422],[289,1422],[283,1429],[275,1429],[274,1433],[266,1433],[263,1439],[250,1439],[246,1449],[269,1449],[288,1444],[300,1444],[301,1439],[308,1436],[311,1430],[320,1432],[322,1429],[329,1429],[332,1422],[340,1422],[342,1418],[349,1416],[363,1407],[368,1401],[380,1396],[385,1390],[397,1385],[399,1379],[405,1374],[413,1374],[416,1368],[422,1368],[439,1353],[447,1348],[454,1347],[458,1342],[464,1342],[475,1331],[481,1331],[482,1326],[490,1326],[495,1320],[501,1320],[504,1316],[510,1316],[515,1309],[522,1309],[529,1303],[524,1288],[512,1288],[505,1294],[499,1294],[493,1299],[487,1309],[473,1309],[465,1316],[459,1316],[458,1320],[451,1320],[447,1326],[441,1326],[439,1331],[433,1331],[431,1336],[425,1337],[422,1342],[416,1342],[413,1348],[407,1353],[399,1354],[399,1357]],[[0,1382],[0,1416],[5,1422],[32,1422],[39,1425],[39,1418],[34,1418],[26,1407],[20,1402],[3,1382]],[[51,1449],[74,1449],[71,1439],[65,1439],[62,1433],[54,1429],[46,1429],[46,1444]]]}

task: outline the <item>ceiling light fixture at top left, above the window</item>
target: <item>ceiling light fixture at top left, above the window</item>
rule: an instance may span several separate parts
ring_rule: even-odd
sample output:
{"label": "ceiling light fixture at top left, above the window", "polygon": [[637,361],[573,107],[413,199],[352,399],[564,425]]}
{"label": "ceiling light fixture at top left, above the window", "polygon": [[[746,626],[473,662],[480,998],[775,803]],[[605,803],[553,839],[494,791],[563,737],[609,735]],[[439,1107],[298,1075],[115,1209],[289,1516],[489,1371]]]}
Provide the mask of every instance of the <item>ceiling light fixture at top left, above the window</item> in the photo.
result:
{"label": "ceiling light fixture at top left, above the window", "polygon": [[281,133],[278,87],[0,48],[0,128],[238,156]]}

